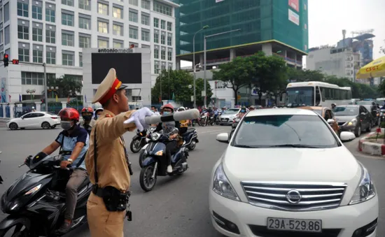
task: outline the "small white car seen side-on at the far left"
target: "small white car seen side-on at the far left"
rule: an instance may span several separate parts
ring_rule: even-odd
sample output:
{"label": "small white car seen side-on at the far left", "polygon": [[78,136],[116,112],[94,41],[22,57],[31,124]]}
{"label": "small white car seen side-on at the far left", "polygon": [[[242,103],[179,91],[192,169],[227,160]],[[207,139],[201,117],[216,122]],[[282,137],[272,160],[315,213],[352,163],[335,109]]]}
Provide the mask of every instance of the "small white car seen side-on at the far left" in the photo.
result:
{"label": "small white car seen side-on at the far left", "polygon": [[60,117],[48,112],[31,112],[15,117],[6,123],[6,126],[11,130],[36,128],[55,129],[56,125],[60,124]]}

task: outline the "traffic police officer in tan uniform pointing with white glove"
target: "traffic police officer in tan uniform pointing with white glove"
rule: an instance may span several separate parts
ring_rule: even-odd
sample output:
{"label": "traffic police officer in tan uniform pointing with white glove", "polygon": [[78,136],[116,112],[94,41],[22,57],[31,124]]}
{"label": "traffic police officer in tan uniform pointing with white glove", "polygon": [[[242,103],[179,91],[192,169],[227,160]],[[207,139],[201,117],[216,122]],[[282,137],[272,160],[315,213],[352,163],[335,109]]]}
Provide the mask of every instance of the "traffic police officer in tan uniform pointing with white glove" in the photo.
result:
{"label": "traffic police officer in tan uniform pointing with white glove", "polygon": [[[116,78],[115,69],[110,69],[92,101],[101,103],[104,108],[92,127],[85,158],[94,185],[87,201],[92,237],[123,237],[131,173],[123,134],[136,128],[143,131],[144,117],[153,115],[148,108],[128,111],[125,87]],[[130,123],[124,123],[126,120]]]}

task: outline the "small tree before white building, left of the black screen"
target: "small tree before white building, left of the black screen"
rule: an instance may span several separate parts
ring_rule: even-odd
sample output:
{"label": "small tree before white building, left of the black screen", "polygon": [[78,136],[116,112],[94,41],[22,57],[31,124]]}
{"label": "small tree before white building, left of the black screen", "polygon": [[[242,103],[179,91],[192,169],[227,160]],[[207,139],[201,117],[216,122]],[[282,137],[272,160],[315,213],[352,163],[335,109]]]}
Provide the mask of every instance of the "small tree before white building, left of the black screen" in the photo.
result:
{"label": "small tree before white building, left of the black screen", "polygon": [[47,86],[58,87],[57,97],[64,98],[67,96],[73,96],[74,94],[80,94],[83,85],[76,78],[65,75],[60,78],[48,78]]}

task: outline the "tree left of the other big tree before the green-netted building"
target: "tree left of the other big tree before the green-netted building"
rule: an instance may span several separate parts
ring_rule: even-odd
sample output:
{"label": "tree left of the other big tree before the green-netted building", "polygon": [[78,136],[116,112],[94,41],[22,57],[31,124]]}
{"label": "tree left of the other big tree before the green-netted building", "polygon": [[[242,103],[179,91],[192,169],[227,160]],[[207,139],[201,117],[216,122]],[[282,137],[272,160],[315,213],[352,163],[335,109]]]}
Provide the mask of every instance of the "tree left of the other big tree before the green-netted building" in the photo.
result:
{"label": "tree left of the other big tree before the green-netted building", "polygon": [[249,57],[236,57],[227,64],[221,64],[219,69],[221,70],[213,71],[213,80],[225,82],[225,87],[234,91],[235,104],[237,104],[239,89],[251,85],[253,61]]}

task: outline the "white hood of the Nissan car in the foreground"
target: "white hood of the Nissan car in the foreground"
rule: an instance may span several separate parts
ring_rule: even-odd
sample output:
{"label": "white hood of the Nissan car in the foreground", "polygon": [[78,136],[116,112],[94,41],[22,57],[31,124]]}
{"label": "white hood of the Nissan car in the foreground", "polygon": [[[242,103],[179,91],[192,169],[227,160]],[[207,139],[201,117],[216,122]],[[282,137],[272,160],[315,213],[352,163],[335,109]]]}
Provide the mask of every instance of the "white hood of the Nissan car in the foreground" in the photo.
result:
{"label": "white hood of the Nissan car in the foreground", "polygon": [[223,154],[230,182],[346,182],[354,185],[361,170],[344,146],[337,148],[235,148]]}

